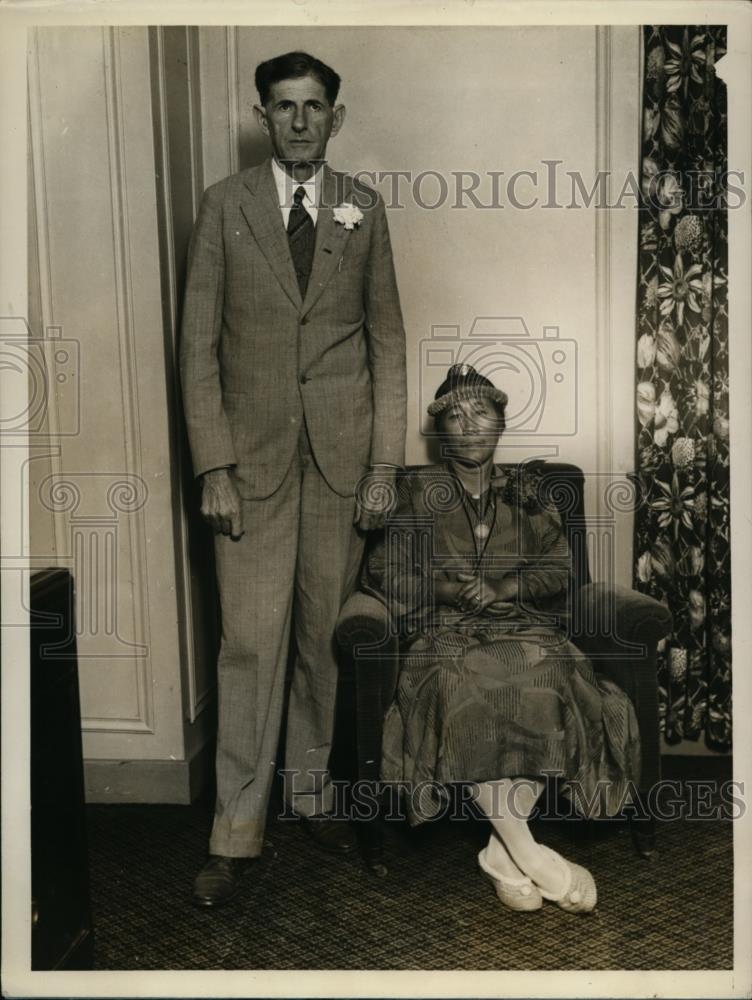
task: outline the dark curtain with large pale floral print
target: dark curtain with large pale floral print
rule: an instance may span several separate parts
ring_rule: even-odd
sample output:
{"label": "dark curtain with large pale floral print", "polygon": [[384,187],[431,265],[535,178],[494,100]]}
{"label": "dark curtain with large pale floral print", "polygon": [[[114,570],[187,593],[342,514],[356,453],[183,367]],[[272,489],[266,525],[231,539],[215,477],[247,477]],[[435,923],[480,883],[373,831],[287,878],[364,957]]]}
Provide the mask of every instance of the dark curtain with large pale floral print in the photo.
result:
{"label": "dark curtain with large pale floral print", "polygon": [[644,28],[635,585],[666,604],[669,743],[731,746],[725,27]]}

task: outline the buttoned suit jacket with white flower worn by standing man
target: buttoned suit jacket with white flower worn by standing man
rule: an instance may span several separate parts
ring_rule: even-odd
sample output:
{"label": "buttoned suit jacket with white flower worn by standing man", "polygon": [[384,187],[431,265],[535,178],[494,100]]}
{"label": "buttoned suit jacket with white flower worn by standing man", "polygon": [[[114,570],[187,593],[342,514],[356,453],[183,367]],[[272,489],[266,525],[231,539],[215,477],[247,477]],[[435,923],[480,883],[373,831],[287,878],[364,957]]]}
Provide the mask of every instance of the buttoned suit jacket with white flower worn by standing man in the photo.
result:
{"label": "buttoned suit jacket with white flower worn by standing man", "polygon": [[[323,168],[313,269],[301,298],[271,162],[208,188],[196,220],[180,373],[196,475],[235,468],[242,497],[280,486],[305,419],[332,489],[404,462],[405,332],[381,197]],[[333,209],[356,205],[356,228]]]}

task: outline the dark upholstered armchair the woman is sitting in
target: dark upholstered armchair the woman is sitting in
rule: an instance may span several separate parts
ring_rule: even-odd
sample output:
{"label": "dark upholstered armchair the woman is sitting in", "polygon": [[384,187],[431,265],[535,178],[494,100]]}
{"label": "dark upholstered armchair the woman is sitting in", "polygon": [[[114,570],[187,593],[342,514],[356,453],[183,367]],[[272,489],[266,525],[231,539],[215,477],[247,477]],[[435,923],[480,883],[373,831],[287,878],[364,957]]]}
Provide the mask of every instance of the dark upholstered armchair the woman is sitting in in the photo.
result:
{"label": "dark upholstered armchair the woman is sitting in", "polygon": [[[595,669],[631,699],[640,729],[642,775],[640,802],[629,814],[639,854],[655,851],[655,825],[646,793],[660,780],[660,736],[656,647],[671,629],[669,611],[653,598],[625,587],[592,583],[588,566],[588,529],[584,512],[584,475],[575,465],[536,461],[525,468],[540,476],[542,495],[559,511],[572,553],[571,637]],[[415,471],[415,470],[409,470]],[[389,530],[389,529],[387,529]],[[358,780],[379,780],[384,715],[395,693],[400,666],[399,640],[389,612],[377,597],[358,591],[340,614],[337,640],[349,692],[348,714]],[[380,828],[361,827],[366,863],[384,874]]]}

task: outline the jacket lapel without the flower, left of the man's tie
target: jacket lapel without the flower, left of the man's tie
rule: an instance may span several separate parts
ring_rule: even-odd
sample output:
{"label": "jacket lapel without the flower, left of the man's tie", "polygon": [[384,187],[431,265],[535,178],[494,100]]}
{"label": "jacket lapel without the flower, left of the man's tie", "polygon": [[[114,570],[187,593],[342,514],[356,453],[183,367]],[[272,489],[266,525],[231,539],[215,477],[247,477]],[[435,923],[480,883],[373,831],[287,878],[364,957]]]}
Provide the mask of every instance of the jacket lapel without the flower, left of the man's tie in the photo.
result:
{"label": "jacket lapel without the flower, left of the man's tie", "polygon": [[290,256],[282,212],[279,209],[271,160],[249,171],[244,183],[240,210],[269,267],[285,293],[299,309],[302,305],[300,288]]}

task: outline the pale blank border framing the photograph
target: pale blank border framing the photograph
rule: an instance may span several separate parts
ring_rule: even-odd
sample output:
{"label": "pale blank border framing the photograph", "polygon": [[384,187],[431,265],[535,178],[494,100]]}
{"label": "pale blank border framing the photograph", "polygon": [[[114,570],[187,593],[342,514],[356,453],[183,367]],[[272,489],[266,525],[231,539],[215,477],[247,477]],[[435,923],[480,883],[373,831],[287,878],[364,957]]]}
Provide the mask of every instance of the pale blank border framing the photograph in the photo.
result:
{"label": "pale blank border framing the photograph", "polygon": [[[33,25],[235,24],[235,25],[552,25],[727,24],[728,53],[719,75],[728,85],[729,167],[744,172],[746,203],[752,175],[752,7],[738,0],[608,3],[528,0],[433,0],[346,3],[338,0],[255,0],[252,3],[98,0],[98,2],[0,3],[0,304],[5,315],[27,314],[26,293],[26,28]],[[732,524],[732,634],[734,675],[734,778],[752,786],[752,227],[749,211],[729,213],[730,425]],[[20,392],[20,387],[9,383]],[[5,412],[24,400],[0,397]],[[16,465],[16,463],[13,463]],[[8,471],[0,448],[0,474]],[[2,490],[0,546],[17,551],[22,521],[19,491]],[[26,539],[28,542],[28,539]],[[7,571],[10,572],[16,571]],[[2,619],[23,620],[28,598],[3,573]],[[26,601],[28,606],[28,602]],[[537,997],[742,997],[752,995],[752,817],[734,828],[733,972],[535,971],[535,972],[29,972],[30,825],[28,642],[23,630],[3,636],[2,657],[2,983],[5,995],[21,996],[537,996]],[[19,634],[21,633],[21,634]],[[691,851],[691,844],[688,845]],[[660,864],[660,860],[657,862]],[[709,915],[710,916],[710,915]],[[583,927],[583,931],[585,928]]]}

